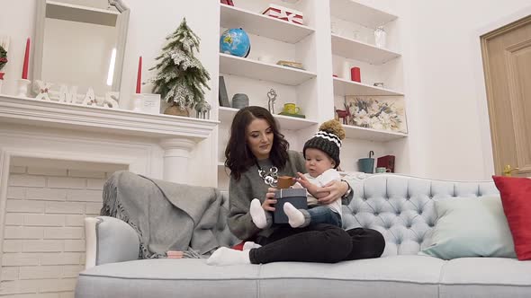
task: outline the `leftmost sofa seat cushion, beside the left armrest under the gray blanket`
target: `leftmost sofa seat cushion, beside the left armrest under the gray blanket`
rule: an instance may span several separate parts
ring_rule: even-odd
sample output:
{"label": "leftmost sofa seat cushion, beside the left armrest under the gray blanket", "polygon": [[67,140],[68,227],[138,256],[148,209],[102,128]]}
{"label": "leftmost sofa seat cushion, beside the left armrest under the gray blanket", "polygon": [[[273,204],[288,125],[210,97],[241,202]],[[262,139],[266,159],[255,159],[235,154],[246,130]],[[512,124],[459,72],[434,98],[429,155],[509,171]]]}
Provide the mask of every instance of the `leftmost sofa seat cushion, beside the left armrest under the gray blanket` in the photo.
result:
{"label": "leftmost sofa seat cushion, beside the left armrest under the gray blanket", "polygon": [[81,272],[76,297],[254,297],[259,268],[208,266],[205,259],[111,263]]}

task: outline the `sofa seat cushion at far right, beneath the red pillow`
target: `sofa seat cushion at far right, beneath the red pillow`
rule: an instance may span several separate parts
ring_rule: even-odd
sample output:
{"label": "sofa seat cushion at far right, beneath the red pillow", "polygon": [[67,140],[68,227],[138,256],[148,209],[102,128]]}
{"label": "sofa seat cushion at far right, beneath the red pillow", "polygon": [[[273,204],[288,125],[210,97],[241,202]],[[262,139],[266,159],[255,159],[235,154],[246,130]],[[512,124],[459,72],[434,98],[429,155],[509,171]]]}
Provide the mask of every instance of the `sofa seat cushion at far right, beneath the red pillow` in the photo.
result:
{"label": "sofa seat cushion at far right, beneath the red pillow", "polygon": [[529,262],[507,258],[452,259],[441,271],[439,297],[529,297]]}

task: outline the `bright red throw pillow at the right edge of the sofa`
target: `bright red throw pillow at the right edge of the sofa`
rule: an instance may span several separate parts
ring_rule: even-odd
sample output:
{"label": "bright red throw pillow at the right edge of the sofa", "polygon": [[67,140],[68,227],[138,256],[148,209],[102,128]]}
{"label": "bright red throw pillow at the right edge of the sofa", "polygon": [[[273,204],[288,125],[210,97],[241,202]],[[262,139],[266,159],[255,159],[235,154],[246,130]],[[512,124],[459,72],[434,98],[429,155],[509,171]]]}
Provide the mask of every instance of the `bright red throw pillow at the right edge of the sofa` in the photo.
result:
{"label": "bright red throw pillow at the right edge of the sofa", "polygon": [[492,176],[519,260],[531,259],[531,179]]}

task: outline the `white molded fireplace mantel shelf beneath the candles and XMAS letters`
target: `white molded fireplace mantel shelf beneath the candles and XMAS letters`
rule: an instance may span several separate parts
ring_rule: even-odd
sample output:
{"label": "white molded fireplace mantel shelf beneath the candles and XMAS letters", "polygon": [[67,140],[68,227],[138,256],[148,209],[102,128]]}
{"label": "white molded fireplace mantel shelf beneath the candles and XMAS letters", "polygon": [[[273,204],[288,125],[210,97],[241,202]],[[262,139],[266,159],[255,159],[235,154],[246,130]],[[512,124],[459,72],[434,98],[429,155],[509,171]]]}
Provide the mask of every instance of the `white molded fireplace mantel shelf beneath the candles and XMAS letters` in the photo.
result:
{"label": "white molded fireplace mantel shelf beneath the candles and XMAS letters", "polygon": [[218,121],[152,115],[58,101],[0,95],[0,122],[101,132],[158,139],[189,138],[195,142],[211,135]]}

